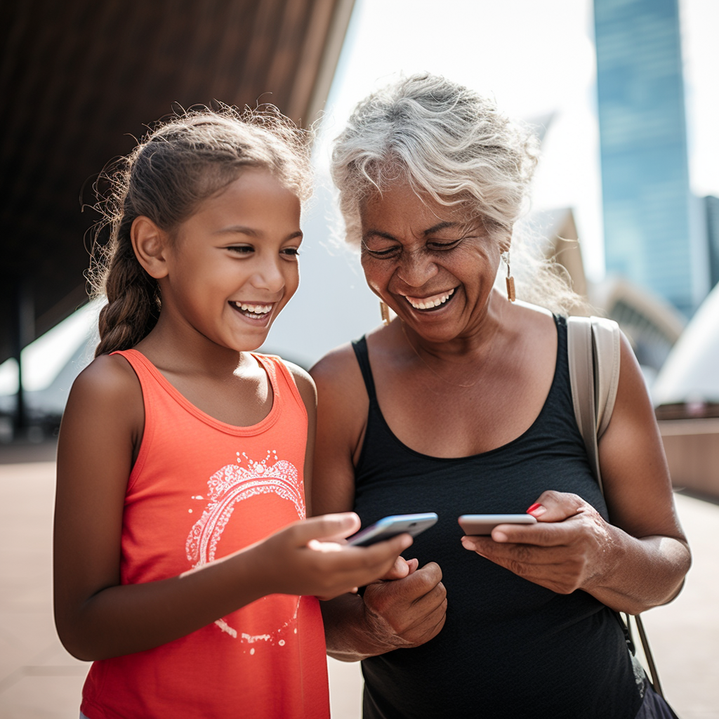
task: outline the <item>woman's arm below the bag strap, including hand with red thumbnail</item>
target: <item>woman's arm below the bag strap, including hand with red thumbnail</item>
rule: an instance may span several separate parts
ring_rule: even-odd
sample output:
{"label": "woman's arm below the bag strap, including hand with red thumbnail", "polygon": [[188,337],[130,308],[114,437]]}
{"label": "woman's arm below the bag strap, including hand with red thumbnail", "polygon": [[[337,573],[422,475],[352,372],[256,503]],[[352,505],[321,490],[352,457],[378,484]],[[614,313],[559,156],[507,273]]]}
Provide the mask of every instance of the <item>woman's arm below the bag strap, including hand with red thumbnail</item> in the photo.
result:
{"label": "woman's arm below the bag strap, including hand with red thumbnail", "polygon": [[654,409],[624,337],[620,362],[614,411],[599,445],[611,523],[576,495],[545,492],[532,510],[536,525],[495,529],[493,539],[462,544],[554,591],[582,589],[615,610],[638,614],[679,593],[691,555]]}

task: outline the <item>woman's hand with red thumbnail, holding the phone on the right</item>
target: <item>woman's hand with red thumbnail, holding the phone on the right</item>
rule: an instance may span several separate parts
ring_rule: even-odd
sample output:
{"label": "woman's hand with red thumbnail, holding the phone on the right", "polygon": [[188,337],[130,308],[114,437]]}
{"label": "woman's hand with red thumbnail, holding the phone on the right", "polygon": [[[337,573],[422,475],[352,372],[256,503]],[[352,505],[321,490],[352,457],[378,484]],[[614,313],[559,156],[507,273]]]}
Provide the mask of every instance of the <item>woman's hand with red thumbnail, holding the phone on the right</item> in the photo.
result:
{"label": "woman's hand with red thumbnail, holding the phone on the right", "polygon": [[462,546],[559,594],[590,590],[619,562],[615,528],[577,495],[544,492],[530,510],[536,524],[501,524]]}

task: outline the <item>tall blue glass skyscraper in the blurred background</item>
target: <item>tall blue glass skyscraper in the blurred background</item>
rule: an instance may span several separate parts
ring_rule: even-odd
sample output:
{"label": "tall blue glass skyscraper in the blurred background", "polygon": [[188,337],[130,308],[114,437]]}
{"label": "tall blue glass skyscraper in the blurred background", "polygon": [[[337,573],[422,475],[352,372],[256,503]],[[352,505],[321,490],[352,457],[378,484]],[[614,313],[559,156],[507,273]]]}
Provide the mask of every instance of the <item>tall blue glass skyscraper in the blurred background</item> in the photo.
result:
{"label": "tall blue glass skyscraper in the blurred background", "polygon": [[677,0],[594,0],[605,257],[690,314],[708,291],[690,194]]}

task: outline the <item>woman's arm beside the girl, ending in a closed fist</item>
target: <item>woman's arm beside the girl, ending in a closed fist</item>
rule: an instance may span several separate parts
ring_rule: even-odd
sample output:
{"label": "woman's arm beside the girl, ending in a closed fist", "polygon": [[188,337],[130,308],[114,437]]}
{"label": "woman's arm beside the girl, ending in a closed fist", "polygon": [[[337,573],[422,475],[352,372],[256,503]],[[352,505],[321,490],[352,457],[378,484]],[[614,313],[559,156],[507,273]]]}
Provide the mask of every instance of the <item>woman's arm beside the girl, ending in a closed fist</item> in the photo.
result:
{"label": "woman's arm beside the girl, ending in a closed fist", "polygon": [[[349,511],[369,410],[362,374],[349,346],[327,355],[310,372],[318,394],[313,510]],[[419,646],[444,626],[446,592],[437,564],[417,569],[416,559],[399,557],[385,580],[367,586],[363,597],[346,594],[322,603],[330,656],[358,661]]]}

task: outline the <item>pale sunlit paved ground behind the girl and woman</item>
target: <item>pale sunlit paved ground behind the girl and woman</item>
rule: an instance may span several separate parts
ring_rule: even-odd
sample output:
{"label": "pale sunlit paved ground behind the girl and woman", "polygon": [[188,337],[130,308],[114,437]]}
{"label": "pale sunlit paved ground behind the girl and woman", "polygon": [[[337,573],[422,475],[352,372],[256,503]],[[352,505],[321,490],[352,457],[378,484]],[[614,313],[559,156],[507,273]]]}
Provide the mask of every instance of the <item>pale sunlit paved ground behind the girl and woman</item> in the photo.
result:
{"label": "pale sunlit paved ground behind the girl and woman", "polygon": [[[76,719],[88,664],[52,623],[52,448],[30,448],[45,461],[27,454],[0,448],[0,719]],[[719,506],[682,495],[677,505],[694,565],[682,595],[645,624],[679,716],[719,719]],[[334,719],[359,719],[361,682],[356,664],[330,660]]]}

